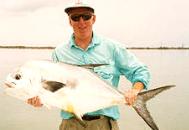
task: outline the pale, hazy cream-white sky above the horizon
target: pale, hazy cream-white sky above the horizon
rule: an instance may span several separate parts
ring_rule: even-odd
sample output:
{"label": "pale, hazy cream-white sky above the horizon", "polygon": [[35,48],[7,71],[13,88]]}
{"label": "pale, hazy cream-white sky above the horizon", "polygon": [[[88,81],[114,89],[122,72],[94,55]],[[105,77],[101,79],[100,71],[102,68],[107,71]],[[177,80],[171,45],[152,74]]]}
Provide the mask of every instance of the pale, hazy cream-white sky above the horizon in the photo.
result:
{"label": "pale, hazy cream-white sky above the horizon", "polygon": [[[73,1],[0,0],[0,45],[67,42],[72,28],[64,8]],[[95,8],[95,33],[129,47],[189,47],[188,0],[85,1]]]}

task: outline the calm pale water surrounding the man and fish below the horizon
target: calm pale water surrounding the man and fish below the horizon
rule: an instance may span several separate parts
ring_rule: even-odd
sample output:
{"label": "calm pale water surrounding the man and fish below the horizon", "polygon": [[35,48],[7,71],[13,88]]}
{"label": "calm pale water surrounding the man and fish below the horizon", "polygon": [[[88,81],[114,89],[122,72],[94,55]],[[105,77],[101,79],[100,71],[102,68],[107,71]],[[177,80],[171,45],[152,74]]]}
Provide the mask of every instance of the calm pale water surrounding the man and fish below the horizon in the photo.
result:
{"label": "calm pale water surrounding the man and fish below the horizon", "polygon": [[[147,64],[152,79],[150,88],[175,84],[176,88],[148,102],[148,109],[161,130],[187,130],[189,104],[189,50],[131,50]],[[16,66],[29,59],[51,59],[52,50],[0,49],[0,85]],[[120,89],[131,84],[121,78]],[[120,130],[150,130],[136,112],[120,106]],[[4,95],[0,87],[0,130],[58,130],[61,121],[58,109],[33,108]]]}

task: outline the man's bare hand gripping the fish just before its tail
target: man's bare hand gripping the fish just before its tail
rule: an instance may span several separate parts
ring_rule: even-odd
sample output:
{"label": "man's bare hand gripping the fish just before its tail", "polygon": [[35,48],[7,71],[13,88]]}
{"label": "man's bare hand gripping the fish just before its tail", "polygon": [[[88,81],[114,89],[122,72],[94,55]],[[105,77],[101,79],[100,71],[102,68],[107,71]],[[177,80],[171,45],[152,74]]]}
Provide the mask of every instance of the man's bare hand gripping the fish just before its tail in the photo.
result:
{"label": "man's bare hand gripping the fish just before its tail", "polygon": [[144,89],[144,85],[141,82],[136,82],[132,89],[129,89],[125,93],[126,104],[132,106],[137,99],[138,93]]}

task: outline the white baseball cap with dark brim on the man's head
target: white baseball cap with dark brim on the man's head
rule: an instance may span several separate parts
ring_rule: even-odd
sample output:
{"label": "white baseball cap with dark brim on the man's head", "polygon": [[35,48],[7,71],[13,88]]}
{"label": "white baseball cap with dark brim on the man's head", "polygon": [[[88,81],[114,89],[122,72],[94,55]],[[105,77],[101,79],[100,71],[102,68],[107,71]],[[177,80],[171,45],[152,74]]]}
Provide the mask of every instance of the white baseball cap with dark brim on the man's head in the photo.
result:
{"label": "white baseball cap with dark brim on the man's head", "polygon": [[75,9],[75,8],[88,8],[91,12],[94,13],[94,8],[92,6],[90,6],[89,4],[87,3],[84,3],[82,1],[78,1],[78,2],[74,2],[74,3],[71,3],[69,4],[65,9],[64,11],[69,14],[69,12],[72,10],[72,9]]}

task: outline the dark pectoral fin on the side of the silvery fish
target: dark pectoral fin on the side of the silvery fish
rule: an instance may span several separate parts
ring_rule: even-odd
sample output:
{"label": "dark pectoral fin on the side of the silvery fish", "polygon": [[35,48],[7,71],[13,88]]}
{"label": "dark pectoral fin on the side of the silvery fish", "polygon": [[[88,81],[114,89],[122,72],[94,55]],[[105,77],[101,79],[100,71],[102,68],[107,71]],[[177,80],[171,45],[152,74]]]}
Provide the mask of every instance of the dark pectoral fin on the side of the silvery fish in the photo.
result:
{"label": "dark pectoral fin on the side of the silvery fish", "polygon": [[43,86],[44,89],[46,89],[48,91],[56,92],[57,90],[66,86],[66,84],[61,83],[61,82],[57,82],[57,81],[44,80],[44,81],[42,81],[42,86]]}

